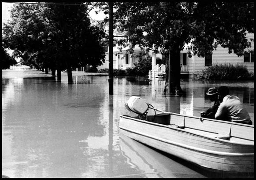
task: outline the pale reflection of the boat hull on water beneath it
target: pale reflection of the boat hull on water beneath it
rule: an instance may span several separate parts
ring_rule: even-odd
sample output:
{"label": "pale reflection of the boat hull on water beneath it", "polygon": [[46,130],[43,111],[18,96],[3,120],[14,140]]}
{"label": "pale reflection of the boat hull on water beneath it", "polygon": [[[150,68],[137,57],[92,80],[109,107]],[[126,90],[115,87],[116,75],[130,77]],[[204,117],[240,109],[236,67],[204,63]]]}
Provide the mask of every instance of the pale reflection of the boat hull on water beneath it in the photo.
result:
{"label": "pale reflection of the boat hull on water beneath it", "polygon": [[139,174],[119,177],[205,177],[129,137],[121,134],[119,140],[121,151],[127,157],[127,163],[141,169]]}

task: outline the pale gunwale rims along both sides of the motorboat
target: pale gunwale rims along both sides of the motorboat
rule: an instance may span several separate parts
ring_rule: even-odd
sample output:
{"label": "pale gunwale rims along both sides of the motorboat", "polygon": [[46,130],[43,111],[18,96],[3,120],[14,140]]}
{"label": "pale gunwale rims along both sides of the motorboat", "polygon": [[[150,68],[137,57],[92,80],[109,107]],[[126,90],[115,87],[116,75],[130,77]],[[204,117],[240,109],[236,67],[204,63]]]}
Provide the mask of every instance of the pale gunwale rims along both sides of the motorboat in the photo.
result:
{"label": "pale gunwale rims along both sides of the motorboat", "polygon": [[[164,112],[164,113],[179,115],[179,114],[171,113],[171,112]],[[193,117],[193,118],[197,118],[198,119],[198,117],[195,117],[195,116],[186,116],[186,115],[180,115],[180,116]],[[193,135],[196,135],[196,136],[199,136],[199,137],[203,137],[203,138],[207,138],[207,139],[211,139],[211,140],[214,140],[214,141],[220,141],[220,142],[224,142],[224,143],[228,143],[228,144],[254,146],[254,140],[252,141],[252,143],[234,142],[234,141],[230,141],[230,140],[220,139],[218,137],[207,136],[207,135],[196,133],[196,132],[189,132],[187,130],[183,130],[183,129],[178,128],[178,127],[173,127],[173,126],[159,124],[159,123],[156,123],[156,122],[149,122],[149,121],[145,121],[145,120],[141,120],[141,119],[136,119],[136,118],[129,117],[129,116],[126,116],[126,115],[120,115],[120,117],[122,117],[124,119],[131,119],[131,120],[134,120],[134,121],[137,121],[137,122],[142,122],[142,123],[150,124],[150,125],[153,125],[153,126],[160,126],[160,127],[169,128],[169,129],[176,130],[176,131],[182,131],[184,133],[193,134]],[[208,119],[206,119],[206,120],[208,120]],[[220,120],[215,120],[215,119],[210,119],[210,120],[211,121],[216,121],[216,122],[225,122],[225,121],[220,121]],[[249,126],[249,127],[254,127],[253,125],[246,125],[246,124],[241,124],[241,123],[236,123],[236,122],[225,122],[225,123],[241,125],[241,126],[245,125],[245,126]]]}

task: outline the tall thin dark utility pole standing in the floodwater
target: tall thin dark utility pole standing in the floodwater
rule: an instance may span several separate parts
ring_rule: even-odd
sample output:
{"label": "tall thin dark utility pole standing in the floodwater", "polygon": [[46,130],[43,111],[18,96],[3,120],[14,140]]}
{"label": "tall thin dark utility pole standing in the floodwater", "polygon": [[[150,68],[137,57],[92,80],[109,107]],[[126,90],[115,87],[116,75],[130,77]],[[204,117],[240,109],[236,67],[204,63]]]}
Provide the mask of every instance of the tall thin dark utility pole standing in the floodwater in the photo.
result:
{"label": "tall thin dark utility pole standing in the floodwater", "polygon": [[108,94],[113,95],[113,2],[108,3],[109,6],[109,91]]}

